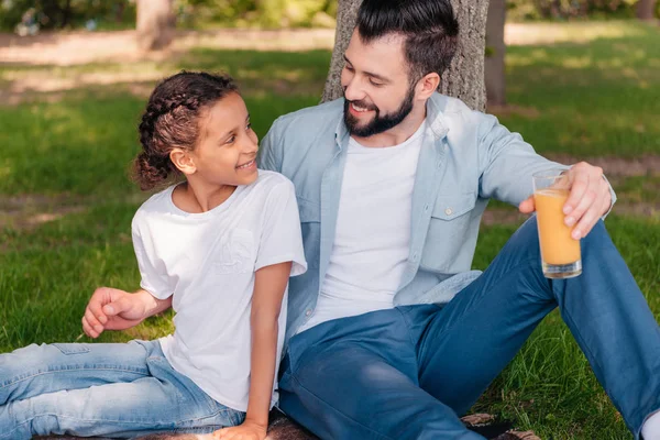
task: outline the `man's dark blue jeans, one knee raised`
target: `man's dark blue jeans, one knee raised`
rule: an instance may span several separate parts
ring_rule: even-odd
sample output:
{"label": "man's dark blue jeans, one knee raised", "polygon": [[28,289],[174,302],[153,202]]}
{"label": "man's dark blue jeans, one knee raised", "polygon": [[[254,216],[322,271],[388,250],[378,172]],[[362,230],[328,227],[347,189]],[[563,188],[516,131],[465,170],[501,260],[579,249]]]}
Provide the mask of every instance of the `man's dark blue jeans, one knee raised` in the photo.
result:
{"label": "man's dark blue jeans, one knee raised", "polygon": [[559,307],[638,439],[660,408],[660,329],[602,221],[582,263],[576,278],[544,278],[532,217],[444,307],[374,311],[292,338],[279,406],[322,439],[483,439],[459,415]]}

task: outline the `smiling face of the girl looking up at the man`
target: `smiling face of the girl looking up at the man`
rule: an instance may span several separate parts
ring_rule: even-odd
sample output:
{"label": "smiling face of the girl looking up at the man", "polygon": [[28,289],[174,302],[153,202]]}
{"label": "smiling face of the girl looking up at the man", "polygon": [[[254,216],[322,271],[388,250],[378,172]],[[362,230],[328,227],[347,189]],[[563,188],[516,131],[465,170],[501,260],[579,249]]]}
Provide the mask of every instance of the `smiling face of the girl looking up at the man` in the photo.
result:
{"label": "smiling face of the girl looking up at the man", "polygon": [[257,177],[256,151],[256,133],[245,102],[239,94],[229,94],[199,120],[199,141],[189,153],[195,178],[213,186],[249,185]]}

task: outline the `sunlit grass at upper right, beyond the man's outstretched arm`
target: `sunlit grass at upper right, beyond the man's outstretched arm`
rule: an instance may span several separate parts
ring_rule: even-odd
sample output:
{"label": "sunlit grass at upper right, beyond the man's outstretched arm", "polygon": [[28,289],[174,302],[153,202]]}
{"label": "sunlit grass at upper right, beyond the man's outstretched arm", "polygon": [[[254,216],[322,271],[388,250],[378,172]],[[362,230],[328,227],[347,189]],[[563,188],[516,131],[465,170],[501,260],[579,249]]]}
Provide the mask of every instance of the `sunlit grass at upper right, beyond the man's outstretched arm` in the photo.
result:
{"label": "sunlit grass at upper right, beyond the man's outstretched arm", "polygon": [[660,28],[602,26],[623,36],[507,48],[507,99],[526,110],[501,120],[539,152],[630,157],[660,151]]}

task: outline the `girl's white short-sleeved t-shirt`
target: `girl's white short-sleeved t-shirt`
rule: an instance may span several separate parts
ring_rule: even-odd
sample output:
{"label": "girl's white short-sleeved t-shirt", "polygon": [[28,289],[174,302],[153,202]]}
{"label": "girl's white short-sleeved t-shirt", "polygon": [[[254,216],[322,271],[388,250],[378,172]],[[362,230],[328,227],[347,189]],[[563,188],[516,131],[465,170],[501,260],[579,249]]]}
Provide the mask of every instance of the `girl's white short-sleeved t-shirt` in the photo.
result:
{"label": "girl's white short-sleeved t-shirt", "polygon": [[[172,366],[217,402],[245,411],[254,273],[288,261],[294,262],[292,276],[307,270],[294,185],[277,173],[258,170],[253,184],[237,187],[204,213],[178,209],[173,190],[152,196],[133,218],[141,287],[161,299],[174,295],[176,330],[161,339]],[[276,365],[286,295],[278,322]]]}

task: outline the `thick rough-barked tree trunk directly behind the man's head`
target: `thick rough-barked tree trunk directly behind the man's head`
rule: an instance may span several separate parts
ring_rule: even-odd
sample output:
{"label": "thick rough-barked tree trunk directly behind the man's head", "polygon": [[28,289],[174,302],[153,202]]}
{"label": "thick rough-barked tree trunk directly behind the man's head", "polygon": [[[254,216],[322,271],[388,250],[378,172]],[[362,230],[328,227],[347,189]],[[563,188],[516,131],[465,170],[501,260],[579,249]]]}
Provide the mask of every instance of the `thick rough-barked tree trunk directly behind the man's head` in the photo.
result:
{"label": "thick rough-barked tree trunk directly behind the man's head", "polygon": [[[361,3],[362,0],[339,0],[334,51],[322,102],[343,96],[340,82],[343,54],[355,26]],[[451,66],[442,75],[440,91],[462,99],[473,109],[484,110],[484,51],[488,3],[487,0],[452,0],[452,6],[459,19],[460,43]]]}

